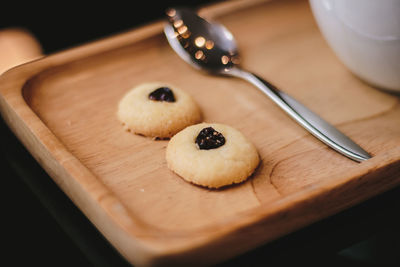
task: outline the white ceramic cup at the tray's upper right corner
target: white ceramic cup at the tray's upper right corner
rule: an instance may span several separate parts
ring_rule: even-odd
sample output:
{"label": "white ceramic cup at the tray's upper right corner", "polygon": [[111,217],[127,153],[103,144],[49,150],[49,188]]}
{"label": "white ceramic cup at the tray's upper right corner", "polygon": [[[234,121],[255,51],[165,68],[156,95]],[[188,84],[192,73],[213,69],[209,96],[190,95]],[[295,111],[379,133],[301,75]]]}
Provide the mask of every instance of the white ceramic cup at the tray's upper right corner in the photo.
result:
{"label": "white ceramic cup at the tray's upper right corner", "polygon": [[400,92],[400,0],[309,0],[343,64],[369,84]]}

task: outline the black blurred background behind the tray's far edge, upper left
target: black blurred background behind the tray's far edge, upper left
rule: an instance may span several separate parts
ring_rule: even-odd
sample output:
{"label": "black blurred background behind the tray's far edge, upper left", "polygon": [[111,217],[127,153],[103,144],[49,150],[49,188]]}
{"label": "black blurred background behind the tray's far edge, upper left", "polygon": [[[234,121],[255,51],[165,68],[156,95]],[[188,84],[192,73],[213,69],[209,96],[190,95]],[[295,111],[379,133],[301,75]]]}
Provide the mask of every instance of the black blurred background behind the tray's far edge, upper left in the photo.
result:
{"label": "black blurred background behind the tray's far edge, upper left", "polygon": [[198,7],[213,2],[221,1],[4,0],[0,5],[0,28],[30,30],[50,54],[161,19],[171,6]]}

